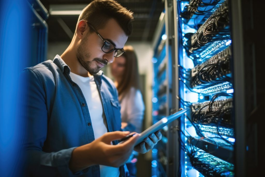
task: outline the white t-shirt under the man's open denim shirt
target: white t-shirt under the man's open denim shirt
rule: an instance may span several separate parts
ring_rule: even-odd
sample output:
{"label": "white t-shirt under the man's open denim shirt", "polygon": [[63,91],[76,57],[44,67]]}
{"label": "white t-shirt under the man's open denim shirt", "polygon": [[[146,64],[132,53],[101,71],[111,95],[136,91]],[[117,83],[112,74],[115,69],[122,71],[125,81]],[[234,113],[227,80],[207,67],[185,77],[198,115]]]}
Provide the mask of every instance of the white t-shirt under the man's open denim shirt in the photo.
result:
{"label": "white t-shirt under the man's open denim shirt", "polygon": [[[101,98],[99,96],[99,91],[95,83],[94,76],[82,77],[80,75],[70,72],[70,77],[80,87],[84,97],[86,98],[94,136],[95,139],[97,139],[108,131],[107,122],[101,103]],[[99,165],[99,167],[101,177],[118,177],[120,175],[119,168],[105,165]]]}

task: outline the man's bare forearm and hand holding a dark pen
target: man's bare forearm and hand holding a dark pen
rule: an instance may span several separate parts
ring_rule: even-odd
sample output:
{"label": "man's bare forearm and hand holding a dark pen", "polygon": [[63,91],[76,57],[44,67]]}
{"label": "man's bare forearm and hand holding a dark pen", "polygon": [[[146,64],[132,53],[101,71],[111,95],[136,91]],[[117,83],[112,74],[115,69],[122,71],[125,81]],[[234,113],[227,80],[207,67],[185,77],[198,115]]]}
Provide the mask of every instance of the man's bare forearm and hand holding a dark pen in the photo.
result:
{"label": "man's bare forearm and hand holding a dark pen", "polygon": [[70,169],[76,172],[98,164],[120,167],[130,157],[139,134],[136,133],[121,144],[112,145],[111,142],[129,134],[130,132],[108,132],[89,144],[75,148],[69,163]]}

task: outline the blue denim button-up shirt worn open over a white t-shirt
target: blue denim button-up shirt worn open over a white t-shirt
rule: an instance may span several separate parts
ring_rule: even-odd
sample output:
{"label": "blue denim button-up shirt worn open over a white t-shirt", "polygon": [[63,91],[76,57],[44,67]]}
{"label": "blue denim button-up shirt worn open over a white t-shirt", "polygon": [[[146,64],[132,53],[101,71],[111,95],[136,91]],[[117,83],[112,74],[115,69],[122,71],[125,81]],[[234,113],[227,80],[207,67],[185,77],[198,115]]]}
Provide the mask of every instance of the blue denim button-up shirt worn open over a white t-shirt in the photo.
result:
{"label": "blue denim button-up shirt worn open over a white t-shirt", "polygon": [[[34,67],[25,68],[25,101],[28,137],[25,148],[28,171],[33,176],[100,176],[99,165],[73,174],[69,161],[74,148],[91,143],[93,125],[85,97],[70,78],[70,68],[56,55]],[[99,71],[94,75],[107,120],[108,132],[121,130],[120,104],[113,82]],[[113,141],[113,145],[117,141]],[[120,176],[127,176],[126,166]],[[126,174],[126,175],[125,175]]]}

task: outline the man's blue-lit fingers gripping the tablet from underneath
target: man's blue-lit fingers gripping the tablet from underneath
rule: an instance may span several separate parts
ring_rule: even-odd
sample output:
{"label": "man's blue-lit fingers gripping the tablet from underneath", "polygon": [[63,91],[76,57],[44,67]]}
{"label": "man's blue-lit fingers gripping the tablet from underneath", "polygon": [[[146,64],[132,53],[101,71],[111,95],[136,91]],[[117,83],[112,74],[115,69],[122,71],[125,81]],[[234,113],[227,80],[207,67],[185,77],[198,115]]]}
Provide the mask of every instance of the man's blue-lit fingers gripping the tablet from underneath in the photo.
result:
{"label": "man's blue-lit fingers gripping the tablet from underneath", "polygon": [[154,145],[157,144],[158,141],[160,141],[162,138],[162,134],[160,131],[157,131],[155,133],[152,133],[147,138],[144,139],[142,143],[134,147],[134,150],[139,153],[146,153],[150,149],[153,149]]}

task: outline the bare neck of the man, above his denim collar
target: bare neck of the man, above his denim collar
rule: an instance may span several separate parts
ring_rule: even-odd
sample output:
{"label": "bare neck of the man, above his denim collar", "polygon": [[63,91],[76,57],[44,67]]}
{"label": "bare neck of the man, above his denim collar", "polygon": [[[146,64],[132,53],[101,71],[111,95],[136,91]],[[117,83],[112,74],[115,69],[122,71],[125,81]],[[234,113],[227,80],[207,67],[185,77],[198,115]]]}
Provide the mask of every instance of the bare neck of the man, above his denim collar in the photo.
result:
{"label": "bare neck of the man, above his denim collar", "polygon": [[79,63],[76,57],[76,50],[73,49],[71,44],[61,55],[63,61],[70,67],[71,72],[83,77],[89,77],[91,74]]}

